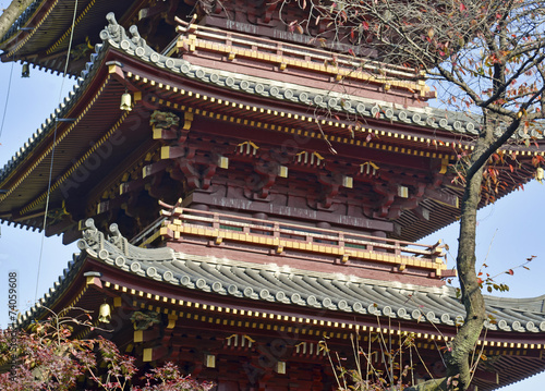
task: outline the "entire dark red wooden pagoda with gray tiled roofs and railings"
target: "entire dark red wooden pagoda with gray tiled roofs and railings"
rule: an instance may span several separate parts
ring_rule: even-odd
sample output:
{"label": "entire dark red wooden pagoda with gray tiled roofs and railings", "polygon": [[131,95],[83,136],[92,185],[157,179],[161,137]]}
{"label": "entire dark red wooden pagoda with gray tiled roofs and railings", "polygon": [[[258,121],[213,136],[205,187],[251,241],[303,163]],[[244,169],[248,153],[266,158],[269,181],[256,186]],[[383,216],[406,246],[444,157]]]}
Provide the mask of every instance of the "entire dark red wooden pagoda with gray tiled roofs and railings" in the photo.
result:
{"label": "entire dark red wooden pagoda with gray tiled roofs and railings", "polygon": [[[82,251],[23,325],[107,303],[141,366],[225,391],[335,389],[324,341],[350,366],[359,340],[382,370],[405,346],[403,383],[444,375],[464,311],[441,244],[414,242],[459,216],[452,166],[479,119],[428,107],[423,76],[372,49],[354,68],[290,33],[296,7],[93,0],[72,25],[73,4],[35,1],[0,41],[2,61],[56,72],[71,50],[78,75],[0,171],[2,221],[43,229],[49,198],[46,234]],[[517,137],[519,169],[496,169],[523,184],[545,142]],[[487,298],[475,390],[545,368],[544,307]]]}

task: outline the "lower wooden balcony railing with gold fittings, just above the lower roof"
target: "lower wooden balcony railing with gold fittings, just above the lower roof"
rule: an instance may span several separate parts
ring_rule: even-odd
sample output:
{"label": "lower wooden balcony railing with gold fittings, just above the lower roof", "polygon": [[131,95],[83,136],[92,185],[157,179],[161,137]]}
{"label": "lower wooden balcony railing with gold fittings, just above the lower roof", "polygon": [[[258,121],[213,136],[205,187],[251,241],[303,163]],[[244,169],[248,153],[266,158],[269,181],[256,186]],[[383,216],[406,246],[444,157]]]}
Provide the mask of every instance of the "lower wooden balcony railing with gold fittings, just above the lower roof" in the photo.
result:
{"label": "lower wooden balcony railing with gold fittings, just above the lower roof", "polygon": [[[164,205],[167,206],[167,205]],[[170,209],[170,208],[169,208]],[[239,217],[182,207],[164,210],[161,235],[171,240],[207,237],[216,244],[244,243],[269,247],[275,254],[306,253],[329,256],[342,262],[371,260],[405,268],[427,269],[435,277],[446,271],[444,245],[424,245],[372,235],[320,229],[279,221]]]}

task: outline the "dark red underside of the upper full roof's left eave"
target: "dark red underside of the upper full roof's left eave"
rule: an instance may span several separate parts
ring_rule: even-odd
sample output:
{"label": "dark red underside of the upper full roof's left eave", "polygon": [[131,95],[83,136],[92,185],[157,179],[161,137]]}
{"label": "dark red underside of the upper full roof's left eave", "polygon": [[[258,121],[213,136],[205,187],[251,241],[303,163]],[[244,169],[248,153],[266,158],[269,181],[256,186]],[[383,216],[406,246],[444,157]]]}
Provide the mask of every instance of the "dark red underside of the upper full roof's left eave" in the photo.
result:
{"label": "dark red underside of the upper full roof's left eave", "polygon": [[[108,61],[108,50],[104,49],[95,63],[88,65],[86,76],[78,80],[70,98],[0,172],[0,186],[8,190],[0,195],[0,219],[39,228],[51,157],[55,164],[50,204],[59,208],[68,198],[62,187],[66,175],[102,147],[129,117],[129,112],[119,109],[125,87],[111,77],[108,66],[100,65]],[[100,174],[100,170],[96,171],[95,174]]]}

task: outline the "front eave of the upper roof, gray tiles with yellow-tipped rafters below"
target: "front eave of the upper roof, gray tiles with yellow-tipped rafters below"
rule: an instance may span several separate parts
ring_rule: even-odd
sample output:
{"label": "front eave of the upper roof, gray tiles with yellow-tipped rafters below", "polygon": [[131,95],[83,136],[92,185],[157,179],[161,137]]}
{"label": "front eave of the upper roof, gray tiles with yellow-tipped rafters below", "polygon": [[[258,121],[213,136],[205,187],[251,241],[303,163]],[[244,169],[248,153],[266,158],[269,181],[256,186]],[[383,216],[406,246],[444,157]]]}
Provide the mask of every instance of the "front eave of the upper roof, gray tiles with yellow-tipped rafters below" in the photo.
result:
{"label": "front eave of the upper roof, gray tiles with yellow-tipped rafters below", "polygon": [[[298,121],[293,120],[292,114],[299,114],[299,117],[306,117],[303,122],[307,121],[306,127],[308,127],[313,125],[314,117],[317,114],[322,117],[318,121],[319,124],[324,126],[324,130],[331,131],[332,134],[349,135],[348,127],[352,125],[351,127],[356,134],[359,132],[373,133],[372,137],[384,137],[393,143],[401,140],[401,144],[420,145],[422,149],[445,151],[450,155],[453,155],[452,148],[455,146],[471,151],[469,142],[479,134],[479,119],[464,113],[428,107],[399,108],[387,101],[307,87],[301,84],[301,77],[292,78],[294,82],[289,83],[246,75],[243,66],[240,68],[239,72],[225,71],[221,66],[222,62],[213,62],[215,68],[194,65],[191,60],[169,58],[155,52],[145,44],[135,44],[141,39],[137,35],[132,40],[129,37],[116,40],[109,36],[109,33],[105,33],[102,38],[108,39],[112,46],[119,47],[137,62],[150,64],[162,71],[162,74],[157,74],[155,77],[145,77],[153,82],[154,86],[161,88],[162,85],[166,85],[168,88],[169,81],[175,84],[175,77],[179,76],[185,80],[184,83],[189,87],[193,86],[196,90],[220,88],[223,91],[230,91],[233,99],[241,100],[243,106],[249,106],[247,102],[266,100],[268,103],[265,106],[272,107],[272,111],[275,106],[287,108],[286,112],[279,111],[274,114],[277,117],[286,114],[283,119],[286,123],[296,123]],[[132,70],[128,68],[124,71],[131,72]],[[283,78],[286,80],[286,77]],[[296,81],[300,84],[295,83]],[[222,95],[226,96],[226,93]],[[207,98],[209,97],[202,97],[205,100]],[[244,110],[240,111],[244,112]],[[304,115],[305,113],[306,115]],[[329,115],[324,113],[329,113]],[[360,130],[354,125],[354,118],[359,118],[362,123]],[[393,132],[392,129],[396,129],[397,132]],[[520,154],[520,156],[543,152],[545,140],[540,132],[533,130],[530,135],[524,135],[522,132],[518,134],[518,137],[533,137],[537,146],[528,148],[523,145],[512,145],[509,146],[510,151]]]}

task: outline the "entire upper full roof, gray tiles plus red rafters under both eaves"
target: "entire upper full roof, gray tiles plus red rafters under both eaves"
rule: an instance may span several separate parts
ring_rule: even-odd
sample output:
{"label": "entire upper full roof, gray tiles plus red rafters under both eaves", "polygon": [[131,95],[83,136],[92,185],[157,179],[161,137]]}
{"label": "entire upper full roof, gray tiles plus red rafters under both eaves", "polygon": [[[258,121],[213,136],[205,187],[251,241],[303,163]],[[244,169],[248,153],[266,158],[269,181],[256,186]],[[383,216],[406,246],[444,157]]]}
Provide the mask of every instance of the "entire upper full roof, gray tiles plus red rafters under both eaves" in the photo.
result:
{"label": "entire upper full roof, gray tiles plus red rafters under both eaves", "polygon": [[[114,30],[119,32],[119,34],[113,34]],[[34,161],[32,159],[37,159],[34,167],[38,167],[41,161],[43,171],[49,168],[48,160],[45,158],[51,152],[50,143],[56,126],[59,131],[62,130],[62,132],[65,129],[70,131],[75,129],[78,122],[82,121],[80,125],[84,122],[93,124],[92,126],[96,127],[96,132],[100,131],[98,127],[100,125],[102,133],[105,129],[110,129],[109,133],[111,133],[119,127],[123,119],[130,115],[125,113],[120,119],[117,105],[111,102],[112,97],[121,96],[126,86],[123,85],[123,81],[109,76],[108,72],[110,69],[113,72],[113,76],[116,76],[114,72],[123,73],[125,82],[129,81],[133,89],[157,90],[157,88],[160,88],[169,97],[173,97],[175,94],[173,95],[172,93],[178,91],[180,98],[189,99],[191,97],[197,106],[203,103],[206,109],[211,108],[210,111],[202,111],[203,115],[206,115],[206,113],[214,114],[215,109],[218,110],[218,113],[221,110],[226,110],[225,101],[206,95],[207,90],[203,88],[208,88],[208,91],[211,91],[210,94],[216,94],[219,97],[243,97],[243,102],[237,105],[237,110],[241,111],[241,115],[245,119],[253,120],[252,115],[254,113],[256,113],[255,115],[259,115],[259,118],[264,118],[265,115],[268,120],[278,123],[278,130],[283,131],[286,129],[292,133],[296,132],[300,126],[307,126],[307,124],[318,121],[316,123],[318,123],[318,126],[327,135],[320,135],[318,132],[315,132],[317,139],[326,137],[326,139],[338,140],[346,145],[355,144],[358,146],[374,148],[377,151],[399,151],[402,155],[415,157],[433,156],[445,161],[455,160],[456,154],[452,147],[457,146],[471,150],[471,137],[477,134],[480,126],[476,121],[477,119],[463,113],[447,112],[429,107],[400,107],[388,101],[377,101],[362,96],[308,87],[294,82],[280,82],[268,77],[249,75],[244,74],[243,70],[241,72],[223,70],[221,64],[210,68],[194,64],[184,59],[165,56],[150,48],[140,36],[136,27],[133,26],[129,32],[125,32],[116,22],[112,14],[109,16],[109,26],[102,29],[100,38],[102,39],[102,44],[96,46],[96,53],[92,56],[90,62],[82,71],[74,90],[56,109],[41,127],[33,134],[28,142],[25,143],[25,146],[0,170],[0,188],[8,191],[8,194],[0,195],[0,205],[8,205],[5,203],[10,200],[11,187],[13,186],[10,180],[17,171],[22,170],[23,164],[29,164]],[[183,36],[180,39],[184,39]],[[271,59],[271,61],[277,60]],[[99,81],[105,81],[104,77],[106,75],[110,78],[99,83]],[[153,80],[153,75],[156,75],[157,80]],[[187,94],[185,94],[185,89],[171,87],[168,82],[165,82],[168,80],[181,81],[180,83],[183,83],[184,88],[187,89]],[[160,102],[164,102],[166,107],[181,108],[181,105],[171,105],[167,99],[161,99],[161,97],[159,97]],[[267,105],[275,102],[276,106],[274,109],[265,110],[263,106],[259,107],[262,102],[266,102]],[[88,110],[89,103],[95,105],[97,109]],[[100,110],[99,107],[101,108]],[[317,120],[313,115],[313,111],[317,108],[338,114]],[[195,113],[201,113],[201,110],[196,109]],[[217,117],[217,114],[214,115]],[[354,118],[354,115],[361,118],[361,122],[365,124],[355,131],[351,129],[352,122],[347,120]],[[74,123],[62,122],[70,118]],[[109,120],[111,120],[111,123],[109,123],[113,127],[104,124]],[[250,120],[246,122],[261,123],[257,118],[255,121]],[[533,133],[532,135],[528,135],[521,130],[517,135],[519,138],[530,136],[535,138],[535,145],[532,144],[530,147],[526,147],[519,143],[509,145],[506,148],[509,148],[508,151],[517,155],[521,161],[524,157],[528,157],[526,160],[530,160],[536,154],[543,155],[542,149],[545,142],[541,133],[535,132],[535,135]],[[354,142],[354,137],[356,142]],[[365,137],[367,137],[367,140]],[[370,137],[371,142],[368,140]],[[374,142],[374,137],[378,138],[378,142]],[[66,148],[64,148],[65,154],[62,157],[56,156],[56,161],[60,162],[57,166],[60,171],[55,172],[53,178],[62,176],[63,172],[66,172],[64,176],[68,175],[69,171],[65,171],[65,164],[70,164],[74,158],[76,160],[81,158],[78,155],[81,148],[72,148],[74,143],[83,145],[97,138],[98,133],[90,132],[78,132],[77,135],[72,133],[65,139],[60,138],[58,144],[65,145]],[[439,143],[437,143],[437,139],[439,139]],[[136,143],[136,140],[134,142]],[[87,155],[84,155],[83,158]],[[514,173],[507,172],[506,175],[509,178],[517,176],[520,183],[525,183],[533,178],[533,170],[531,166],[525,167],[522,164]],[[23,188],[25,182],[28,182],[32,178],[33,173],[25,171],[24,176],[17,182],[17,186],[22,186],[21,188]],[[47,178],[47,175],[44,175],[44,178]],[[35,187],[36,184],[33,185],[33,188]],[[43,188],[41,193],[44,191]],[[461,188],[449,186],[445,191],[455,197],[461,195]],[[500,188],[498,197],[509,193],[509,191],[508,188]],[[33,197],[32,192],[26,192],[25,194],[28,195],[28,199],[12,199],[8,209],[3,208],[1,210],[0,219],[13,221],[9,212],[25,205],[27,206],[25,207],[26,209],[32,206],[31,209],[35,210],[39,204],[38,198],[31,198]],[[21,204],[29,203],[33,199],[35,200],[32,204]],[[57,199],[60,204],[62,197],[59,193],[57,198],[52,197],[52,199]],[[39,201],[44,201],[44,197],[40,197]],[[20,203],[21,205],[13,203]],[[429,210],[445,208],[445,206],[433,200],[424,200],[422,205],[425,205]],[[481,206],[484,205],[483,200]],[[455,221],[457,213],[451,212],[450,209],[447,210],[447,212],[439,212],[437,217],[433,217],[428,222],[416,221],[416,218],[408,216],[405,218],[407,221],[403,220],[402,224],[403,227],[412,227],[413,232],[405,239],[415,240],[423,237]],[[403,219],[403,216],[401,219]],[[21,216],[17,217],[16,222],[26,227],[39,228],[41,219],[25,219],[24,216]]]}

